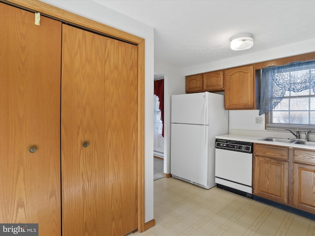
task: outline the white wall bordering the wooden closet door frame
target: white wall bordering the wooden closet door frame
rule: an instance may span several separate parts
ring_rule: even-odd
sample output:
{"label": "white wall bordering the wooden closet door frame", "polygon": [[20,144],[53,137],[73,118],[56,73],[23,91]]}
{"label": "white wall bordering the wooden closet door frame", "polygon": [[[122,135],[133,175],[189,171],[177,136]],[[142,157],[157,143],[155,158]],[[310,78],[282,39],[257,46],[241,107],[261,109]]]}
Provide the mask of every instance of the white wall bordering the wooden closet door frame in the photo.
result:
{"label": "white wall bordering the wooden closet door frame", "polygon": [[154,29],[89,0],[41,0],[145,39],[145,222],[153,219]]}

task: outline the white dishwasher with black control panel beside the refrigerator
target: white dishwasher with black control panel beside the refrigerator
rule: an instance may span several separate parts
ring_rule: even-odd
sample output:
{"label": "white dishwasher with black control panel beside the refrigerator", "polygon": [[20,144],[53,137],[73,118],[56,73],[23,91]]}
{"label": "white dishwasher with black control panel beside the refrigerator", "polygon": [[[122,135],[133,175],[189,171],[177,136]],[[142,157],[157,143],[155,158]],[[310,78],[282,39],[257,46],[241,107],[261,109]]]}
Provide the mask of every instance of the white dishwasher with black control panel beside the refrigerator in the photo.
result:
{"label": "white dishwasher with black control panel beside the refrigerator", "polygon": [[253,143],[216,139],[218,188],[252,198],[252,149]]}

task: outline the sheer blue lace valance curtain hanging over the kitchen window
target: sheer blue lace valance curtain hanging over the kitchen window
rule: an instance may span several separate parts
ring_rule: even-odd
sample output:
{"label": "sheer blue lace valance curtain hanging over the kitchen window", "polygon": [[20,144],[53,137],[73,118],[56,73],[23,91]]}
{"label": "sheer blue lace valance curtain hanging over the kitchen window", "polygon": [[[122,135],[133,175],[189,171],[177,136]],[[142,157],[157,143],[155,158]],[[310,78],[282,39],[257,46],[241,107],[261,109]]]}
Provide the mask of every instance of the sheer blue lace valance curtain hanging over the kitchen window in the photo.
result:
{"label": "sheer blue lace valance curtain hanging over the kitchen window", "polygon": [[315,60],[296,61],[262,69],[259,115],[273,110],[284,98],[285,91],[315,92]]}

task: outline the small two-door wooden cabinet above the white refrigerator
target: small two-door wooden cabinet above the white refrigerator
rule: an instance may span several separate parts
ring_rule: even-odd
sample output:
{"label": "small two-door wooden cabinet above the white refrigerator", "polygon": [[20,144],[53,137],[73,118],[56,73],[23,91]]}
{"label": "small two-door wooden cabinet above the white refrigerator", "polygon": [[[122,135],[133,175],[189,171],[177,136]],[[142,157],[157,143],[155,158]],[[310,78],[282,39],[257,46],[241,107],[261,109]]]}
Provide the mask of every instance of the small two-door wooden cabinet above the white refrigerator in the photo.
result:
{"label": "small two-door wooden cabinet above the white refrigerator", "polygon": [[223,70],[186,77],[186,93],[223,90]]}

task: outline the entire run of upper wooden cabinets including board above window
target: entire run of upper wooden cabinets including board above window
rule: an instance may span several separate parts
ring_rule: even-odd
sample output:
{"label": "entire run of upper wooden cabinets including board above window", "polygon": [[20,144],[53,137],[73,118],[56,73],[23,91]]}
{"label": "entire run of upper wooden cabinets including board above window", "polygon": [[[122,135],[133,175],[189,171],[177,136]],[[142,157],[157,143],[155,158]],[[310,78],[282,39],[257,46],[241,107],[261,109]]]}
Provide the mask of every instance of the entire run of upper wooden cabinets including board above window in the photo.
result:
{"label": "entire run of upper wooden cabinets including board above window", "polygon": [[225,110],[259,110],[261,69],[315,59],[315,53],[263,61],[186,77],[186,93],[224,91]]}

